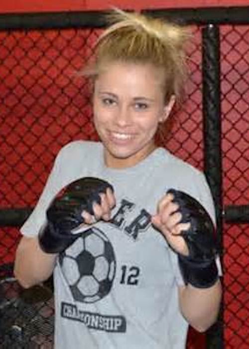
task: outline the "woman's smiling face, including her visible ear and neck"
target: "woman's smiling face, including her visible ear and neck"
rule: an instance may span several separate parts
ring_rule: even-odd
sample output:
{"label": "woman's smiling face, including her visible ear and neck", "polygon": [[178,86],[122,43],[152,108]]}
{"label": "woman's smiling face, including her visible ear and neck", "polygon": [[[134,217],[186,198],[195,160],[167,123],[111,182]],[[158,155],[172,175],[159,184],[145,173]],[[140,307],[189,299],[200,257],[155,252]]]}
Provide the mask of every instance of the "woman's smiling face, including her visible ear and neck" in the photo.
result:
{"label": "woman's smiling face, including her visible ear and neck", "polygon": [[105,163],[130,167],[154,149],[158,124],[169,115],[174,100],[164,104],[161,70],[150,64],[112,62],[96,81],[94,124],[105,148]]}

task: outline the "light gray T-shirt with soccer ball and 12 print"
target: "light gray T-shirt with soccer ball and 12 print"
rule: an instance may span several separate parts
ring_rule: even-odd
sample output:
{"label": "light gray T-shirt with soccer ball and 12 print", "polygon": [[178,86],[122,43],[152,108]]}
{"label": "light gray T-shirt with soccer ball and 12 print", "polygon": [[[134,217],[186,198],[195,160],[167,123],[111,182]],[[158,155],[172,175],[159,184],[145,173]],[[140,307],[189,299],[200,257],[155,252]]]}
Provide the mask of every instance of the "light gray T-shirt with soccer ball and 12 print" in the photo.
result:
{"label": "light gray T-shirt with soccer ball and 12 print", "polygon": [[133,167],[110,169],[101,143],[75,141],[59,152],[22,234],[37,235],[58,191],[85,176],[108,180],[117,205],[110,222],[97,222],[57,258],[55,348],[185,348],[177,255],[152,227],[150,214],[172,187],[198,199],[215,220],[204,175],[163,148]]}

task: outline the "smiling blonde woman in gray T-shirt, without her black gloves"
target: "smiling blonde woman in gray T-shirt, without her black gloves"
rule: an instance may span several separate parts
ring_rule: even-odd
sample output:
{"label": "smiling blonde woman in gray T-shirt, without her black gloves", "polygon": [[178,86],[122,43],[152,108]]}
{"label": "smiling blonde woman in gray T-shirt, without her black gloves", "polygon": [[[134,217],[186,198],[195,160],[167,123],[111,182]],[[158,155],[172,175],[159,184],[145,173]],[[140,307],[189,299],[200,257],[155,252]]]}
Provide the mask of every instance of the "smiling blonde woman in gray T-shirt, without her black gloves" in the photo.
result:
{"label": "smiling blonde woman in gray T-shirt, without her black gloves", "polygon": [[[186,282],[180,260],[190,255],[182,235],[190,223],[182,221],[179,204],[167,193],[187,192],[214,221],[205,177],[154,140],[182,97],[189,35],[136,13],[118,10],[114,19],[84,71],[93,82],[101,142],[71,142],[59,152],[21,228],[15,275],[30,287],[54,272],[58,349],[182,349],[188,324],[209,328],[221,299],[217,270],[210,284]],[[38,234],[49,230],[51,201],[85,177],[112,187],[100,193],[93,212],[83,210],[87,230],[60,253],[44,252]]]}

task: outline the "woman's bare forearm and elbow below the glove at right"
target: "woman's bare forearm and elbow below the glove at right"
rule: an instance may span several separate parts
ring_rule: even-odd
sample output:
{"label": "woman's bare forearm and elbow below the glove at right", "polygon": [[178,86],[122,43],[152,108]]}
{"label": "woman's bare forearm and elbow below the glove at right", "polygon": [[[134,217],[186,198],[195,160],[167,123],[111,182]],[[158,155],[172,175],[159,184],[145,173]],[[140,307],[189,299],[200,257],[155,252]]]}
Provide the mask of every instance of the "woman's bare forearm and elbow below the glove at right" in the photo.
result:
{"label": "woman's bare forearm and elbow below the glove at right", "polygon": [[179,287],[181,313],[195,330],[204,332],[217,320],[221,295],[220,281],[206,289],[195,288],[190,284]]}

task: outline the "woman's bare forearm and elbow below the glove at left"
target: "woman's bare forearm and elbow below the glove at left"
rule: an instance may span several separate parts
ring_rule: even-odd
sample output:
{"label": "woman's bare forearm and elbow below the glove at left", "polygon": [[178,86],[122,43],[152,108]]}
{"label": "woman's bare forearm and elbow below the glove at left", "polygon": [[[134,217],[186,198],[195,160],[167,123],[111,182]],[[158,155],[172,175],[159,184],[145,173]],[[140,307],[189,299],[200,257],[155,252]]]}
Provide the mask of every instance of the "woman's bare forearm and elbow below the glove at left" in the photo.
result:
{"label": "woman's bare forearm and elbow below the glove at left", "polygon": [[16,279],[24,288],[45,281],[53,272],[56,256],[57,254],[48,254],[40,249],[38,237],[23,236],[15,256]]}

